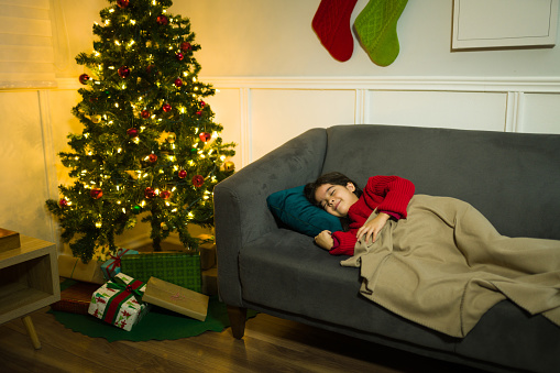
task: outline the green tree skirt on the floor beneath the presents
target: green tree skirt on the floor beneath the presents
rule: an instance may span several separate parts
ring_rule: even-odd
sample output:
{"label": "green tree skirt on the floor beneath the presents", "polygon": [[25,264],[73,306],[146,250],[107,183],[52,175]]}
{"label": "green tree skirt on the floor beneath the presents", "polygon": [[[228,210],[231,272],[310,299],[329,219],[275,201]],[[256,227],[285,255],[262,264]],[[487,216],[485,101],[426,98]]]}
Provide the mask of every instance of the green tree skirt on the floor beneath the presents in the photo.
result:
{"label": "green tree skirt on the floor beneath the presents", "polygon": [[[151,310],[144,315],[139,323],[132,327],[131,331],[113,327],[91,315],[78,315],[53,309],[50,312],[66,328],[88,337],[105,338],[109,342],[119,340],[173,340],[199,336],[209,330],[219,332],[230,326],[226,304],[221,303],[217,296],[210,297],[205,321],[152,306]],[[248,310],[248,318],[254,317],[256,314],[256,311]]]}

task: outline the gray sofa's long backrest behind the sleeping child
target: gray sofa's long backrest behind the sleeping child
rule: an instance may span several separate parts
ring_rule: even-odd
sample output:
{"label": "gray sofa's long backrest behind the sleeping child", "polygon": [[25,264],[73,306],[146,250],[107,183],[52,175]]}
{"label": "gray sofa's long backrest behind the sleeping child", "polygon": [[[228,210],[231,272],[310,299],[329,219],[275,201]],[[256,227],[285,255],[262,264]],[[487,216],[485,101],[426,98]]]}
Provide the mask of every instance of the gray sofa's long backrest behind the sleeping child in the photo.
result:
{"label": "gray sofa's long backrest behind the sleeping child", "polygon": [[322,173],[398,175],[470,202],[504,235],[560,239],[560,135],[396,125],[327,129]]}

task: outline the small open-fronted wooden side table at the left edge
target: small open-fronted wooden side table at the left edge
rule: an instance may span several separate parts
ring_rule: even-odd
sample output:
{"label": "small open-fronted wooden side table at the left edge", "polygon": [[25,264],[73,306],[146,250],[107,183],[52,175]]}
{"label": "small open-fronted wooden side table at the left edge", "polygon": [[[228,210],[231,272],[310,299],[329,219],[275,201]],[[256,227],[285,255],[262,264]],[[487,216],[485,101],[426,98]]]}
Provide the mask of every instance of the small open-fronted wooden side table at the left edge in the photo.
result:
{"label": "small open-fronted wooden side table at the left edge", "polygon": [[0,253],[0,325],[21,317],[41,349],[29,314],[61,299],[56,245],[21,235],[21,246]]}

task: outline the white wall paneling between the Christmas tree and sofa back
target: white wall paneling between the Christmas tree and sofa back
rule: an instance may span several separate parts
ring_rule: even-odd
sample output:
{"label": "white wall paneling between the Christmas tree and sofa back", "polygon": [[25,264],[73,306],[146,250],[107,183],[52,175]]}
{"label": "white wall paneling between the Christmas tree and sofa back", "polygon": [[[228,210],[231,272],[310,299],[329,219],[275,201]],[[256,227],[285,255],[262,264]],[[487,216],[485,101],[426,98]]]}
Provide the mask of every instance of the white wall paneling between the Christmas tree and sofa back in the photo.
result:
{"label": "white wall paneling between the Christmas tree and sofa back", "polygon": [[[227,128],[242,118],[238,146],[243,154],[241,166],[307,129],[341,123],[560,133],[559,125],[543,127],[534,114],[524,114],[528,94],[532,95],[531,105],[535,97],[560,94],[558,77],[204,77],[204,80],[220,90],[242,92],[242,99],[237,101],[238,111],[227,109],[231,117],[221,120]],[[553,113],[546,105],[540,106],[542,117]],[[213,109],[220,112],[222,108],[215,105]],[[548,121],[557,118],[560,116],[548,117]]]}

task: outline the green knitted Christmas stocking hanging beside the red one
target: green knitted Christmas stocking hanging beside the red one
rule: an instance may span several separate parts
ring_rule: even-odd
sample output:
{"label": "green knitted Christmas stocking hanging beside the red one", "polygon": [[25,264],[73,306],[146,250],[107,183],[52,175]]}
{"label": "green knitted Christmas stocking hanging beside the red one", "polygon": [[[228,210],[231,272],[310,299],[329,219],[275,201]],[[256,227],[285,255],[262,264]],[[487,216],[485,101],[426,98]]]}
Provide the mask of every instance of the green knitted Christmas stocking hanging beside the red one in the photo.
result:
{"label": "green knitted Christmas stocking hanging beside the red one", "polygon": [[372,61],[391,65],[398,56],[397,21],[408,0],[370,0],[354,22],[358,37]]}

